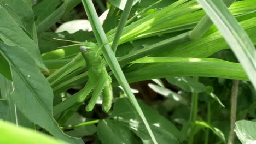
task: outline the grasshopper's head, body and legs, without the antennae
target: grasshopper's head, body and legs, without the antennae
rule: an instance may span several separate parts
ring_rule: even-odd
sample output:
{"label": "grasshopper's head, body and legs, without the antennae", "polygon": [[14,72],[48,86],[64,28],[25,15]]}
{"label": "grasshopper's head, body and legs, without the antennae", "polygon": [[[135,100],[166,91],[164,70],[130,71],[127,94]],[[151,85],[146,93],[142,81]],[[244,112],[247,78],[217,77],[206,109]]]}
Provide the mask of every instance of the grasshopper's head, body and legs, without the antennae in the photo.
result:
{"label": "grasshopper's head, body and legs, without the antennae", "polygon": [[[80,46],[80,51],[85,59],[86,66],[88,67],[88,83],[94,83],[94,92],[92,93],[91,100],[86,106],[86,111],[91,111],[96,104],[97,98],[103,91],[103,104],[102,109],[106,112],[109,111],[112,103],[112,87],[111,87],[111,78],[107,73],[105,64],[106,62],[100,55],[97,55],[98,50],[89,48],[87,46]],[[88,85],[86,83],[86,86]],[[89,94],[89,93],[88,93]],[[87,95],[80,95],[77,101],[82,102],[87,97]],[[109,104],[110,103],[110,104]]]}

